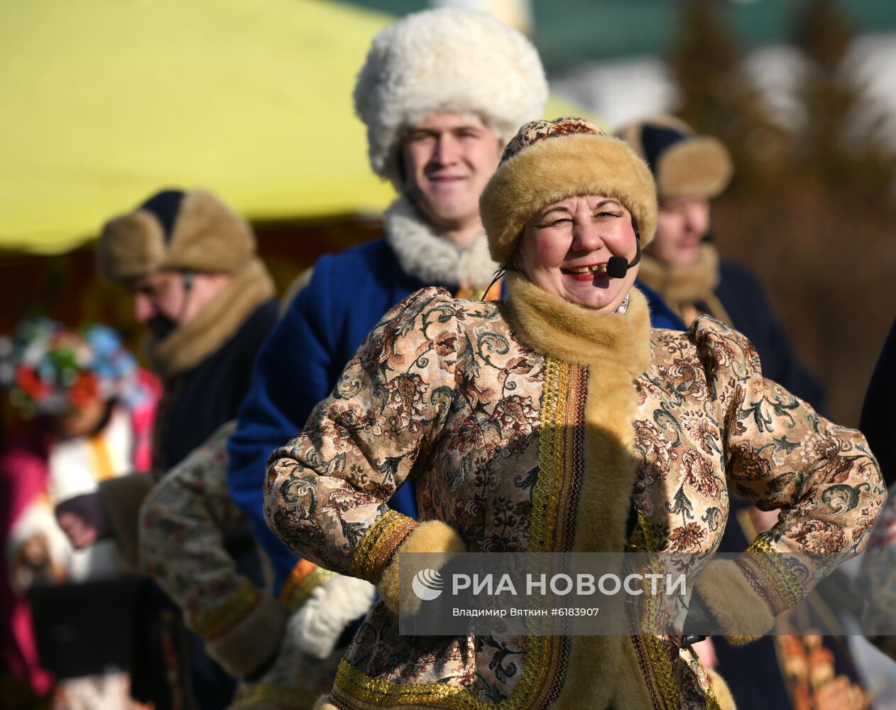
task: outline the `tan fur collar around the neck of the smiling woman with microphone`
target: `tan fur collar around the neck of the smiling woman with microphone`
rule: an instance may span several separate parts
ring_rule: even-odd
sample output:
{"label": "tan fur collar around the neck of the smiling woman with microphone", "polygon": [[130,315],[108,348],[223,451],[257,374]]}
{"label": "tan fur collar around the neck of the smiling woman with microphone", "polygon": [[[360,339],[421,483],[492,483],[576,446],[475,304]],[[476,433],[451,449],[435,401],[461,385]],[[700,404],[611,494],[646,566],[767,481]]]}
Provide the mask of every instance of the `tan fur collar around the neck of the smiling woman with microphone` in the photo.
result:
{"label": "tan fur collar around the neck of the smiling woman with microphone", "polygon": [[521,341],[576,365],[612,365],[631,379],[650,367],[650,310],[632,289],[625,313],[597,313],[551,296],[519,273],[508,273],[507,307]]}

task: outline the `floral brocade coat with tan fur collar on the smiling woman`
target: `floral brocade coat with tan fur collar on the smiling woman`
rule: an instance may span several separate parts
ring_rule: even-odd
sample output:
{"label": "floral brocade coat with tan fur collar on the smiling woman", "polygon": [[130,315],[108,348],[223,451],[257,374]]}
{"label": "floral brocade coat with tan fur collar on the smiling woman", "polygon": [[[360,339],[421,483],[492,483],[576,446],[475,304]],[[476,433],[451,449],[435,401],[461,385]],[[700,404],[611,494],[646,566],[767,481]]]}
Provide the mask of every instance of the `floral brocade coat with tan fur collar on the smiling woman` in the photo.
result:
{"label": "floral brocade coat with tan fur collar on the smiling woman", "polygon": [[[420,290],[383,317],[303,432],[271,455],[266,515],[293,550],[373,583],[402,545],[426,551],[409,542],[431,520],[469,551],[619,552],[633,506],[640,549],[710,558],[728,486],[784,511],[754,549],[835,561],[862,549],[885,495],[864,438],[763,379],[740,333],[708,317],[689,333],[651,331],[637,290],[614,314],[515,274],[508,291],[481,303]],[[385,505],[409,476],[420,523]],[[745,589],[771,614],[814,584],[795,589],[761,567],[742,565]],[[381,601],[329,702],[719,706],[716,681],[679,646],[677,636],[400,636]]]}

